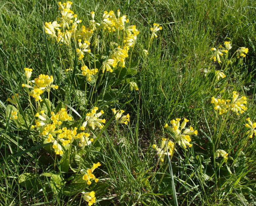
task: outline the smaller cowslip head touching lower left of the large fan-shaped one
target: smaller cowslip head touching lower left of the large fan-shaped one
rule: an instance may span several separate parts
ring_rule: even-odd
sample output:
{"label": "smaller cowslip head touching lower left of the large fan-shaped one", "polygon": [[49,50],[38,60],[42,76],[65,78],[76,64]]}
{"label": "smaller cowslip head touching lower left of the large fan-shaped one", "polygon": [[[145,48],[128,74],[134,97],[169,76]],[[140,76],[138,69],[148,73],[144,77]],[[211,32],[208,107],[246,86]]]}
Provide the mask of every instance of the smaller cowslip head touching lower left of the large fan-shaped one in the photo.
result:
{"label": "smaller cowslip head touching lower left of the large fan-shaped one", "polygon": [[157,155],[159,156],[160,162],[164,161],[164,156],[165,155],[171,156],[173,154],[173,150],[174,150],[174,143],[173,143],[173,141],[168,140],[168,142],[167,142],[167,149],[166,149],[166,145],[165,145],[166,141],[167,141],[166,138],[162,138],[160,147],[158,147],[156,144],[152,145],[152,148],[156,150]]}

